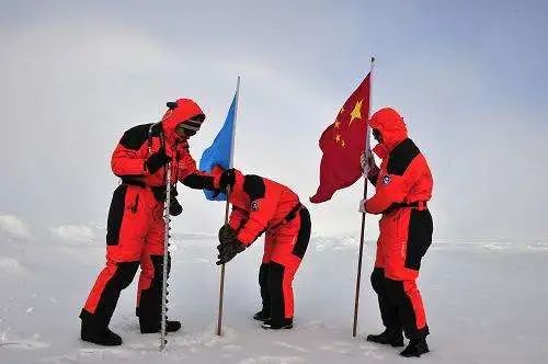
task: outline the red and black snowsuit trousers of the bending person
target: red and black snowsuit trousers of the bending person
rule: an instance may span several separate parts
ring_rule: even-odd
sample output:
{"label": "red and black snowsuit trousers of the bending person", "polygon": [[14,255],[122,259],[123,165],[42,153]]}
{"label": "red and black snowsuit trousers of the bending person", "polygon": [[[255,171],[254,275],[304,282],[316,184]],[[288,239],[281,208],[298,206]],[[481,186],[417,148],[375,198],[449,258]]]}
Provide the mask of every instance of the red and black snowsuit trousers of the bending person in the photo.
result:
{"label": "red and black snowsuit trousers of the bending person", "polygon": [[293,278],[310,240],[310,214],[305,206],[295,217],[273,232],[266,232],[264,254],[259,270],[263,311],[273,323],[293,319]]}

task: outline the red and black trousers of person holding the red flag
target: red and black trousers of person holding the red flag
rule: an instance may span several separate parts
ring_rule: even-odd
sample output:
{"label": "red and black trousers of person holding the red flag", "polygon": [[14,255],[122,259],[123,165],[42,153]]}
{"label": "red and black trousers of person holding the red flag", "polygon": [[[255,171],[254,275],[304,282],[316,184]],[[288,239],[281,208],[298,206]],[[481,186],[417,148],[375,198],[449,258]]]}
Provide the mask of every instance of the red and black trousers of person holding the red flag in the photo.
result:
{"label": "red and black trousers of person holding the red flag", "polygon": [[378,295],[383,323],[403,329],[409,339],[429,334],[416,277],[421,259],[432,243],[433,224],[423,203],[396,207],[383,215],[372,285]]}

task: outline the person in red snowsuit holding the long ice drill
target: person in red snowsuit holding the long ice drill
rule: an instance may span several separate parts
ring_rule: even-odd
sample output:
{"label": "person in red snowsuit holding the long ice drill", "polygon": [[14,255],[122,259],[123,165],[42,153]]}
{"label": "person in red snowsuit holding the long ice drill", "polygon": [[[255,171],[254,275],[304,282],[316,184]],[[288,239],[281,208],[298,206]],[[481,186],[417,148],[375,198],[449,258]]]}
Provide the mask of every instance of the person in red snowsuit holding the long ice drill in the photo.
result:
{"label": "person in red snowsuit holding the long ice drill", "polygon": [[[80,314],[84,341],[122,344],[121,337],[109,329],[109,322],[121,291],[132,283],[139,265],[136,312],[140,331],[159,332],[165,184],[172,184],[170,214],[173,216],[182,212],[175,197],[178,181],[193,189],[218,189],[221,171],[218,174],[199,172],[189,152],[187,139],[199,129],[204,113],[190,99],[167,105],[161,122],[128,129],[112,155],[112,171],[122,181],[114,191],[109,211],[106,266],[99,274]],[[171,162],[170,181],[165,181],[168,162]],[[180,328],[180,321],[167,322],[167,331]]]}

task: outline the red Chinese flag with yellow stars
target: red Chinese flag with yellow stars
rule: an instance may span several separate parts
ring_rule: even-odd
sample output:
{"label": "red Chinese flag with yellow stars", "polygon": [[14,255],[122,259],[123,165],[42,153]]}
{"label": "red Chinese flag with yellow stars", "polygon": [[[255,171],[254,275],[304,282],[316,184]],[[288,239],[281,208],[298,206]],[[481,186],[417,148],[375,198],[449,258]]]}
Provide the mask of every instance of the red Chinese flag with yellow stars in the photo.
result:
{"label": "red Chinese flag with yellow stars", "polygon": [[354,184],[363,175],[359,156],[366,147],[369,90],[370,73],[346,100],[335,122],[321,134],[320,186],[310,197],[311,203],[331,200],[336,190]]}

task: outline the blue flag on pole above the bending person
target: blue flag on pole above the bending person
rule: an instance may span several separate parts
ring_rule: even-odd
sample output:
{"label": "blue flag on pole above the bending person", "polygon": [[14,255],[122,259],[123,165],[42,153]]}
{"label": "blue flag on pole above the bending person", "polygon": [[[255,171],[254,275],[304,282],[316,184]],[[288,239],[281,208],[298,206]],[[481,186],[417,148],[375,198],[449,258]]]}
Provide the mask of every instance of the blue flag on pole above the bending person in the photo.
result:
{"label": "blue flag on pole above the bending person", "polygon": [[[210,172],[212,168],[216,164],[219,164],[224,169],[232,167],[232,136],[235,132],[237,103],[238,91],[236,91],[235,98],[232,99],[225,124],[215,137],[215,140],[213,140],[212,146],[204,150],[199,159],[201,171]],[[209,201],[227,201],[227,195],[225,193],[220,193],[217,197],[214,197],[215,193],[210,190],[204,190],[204,193]]]}

